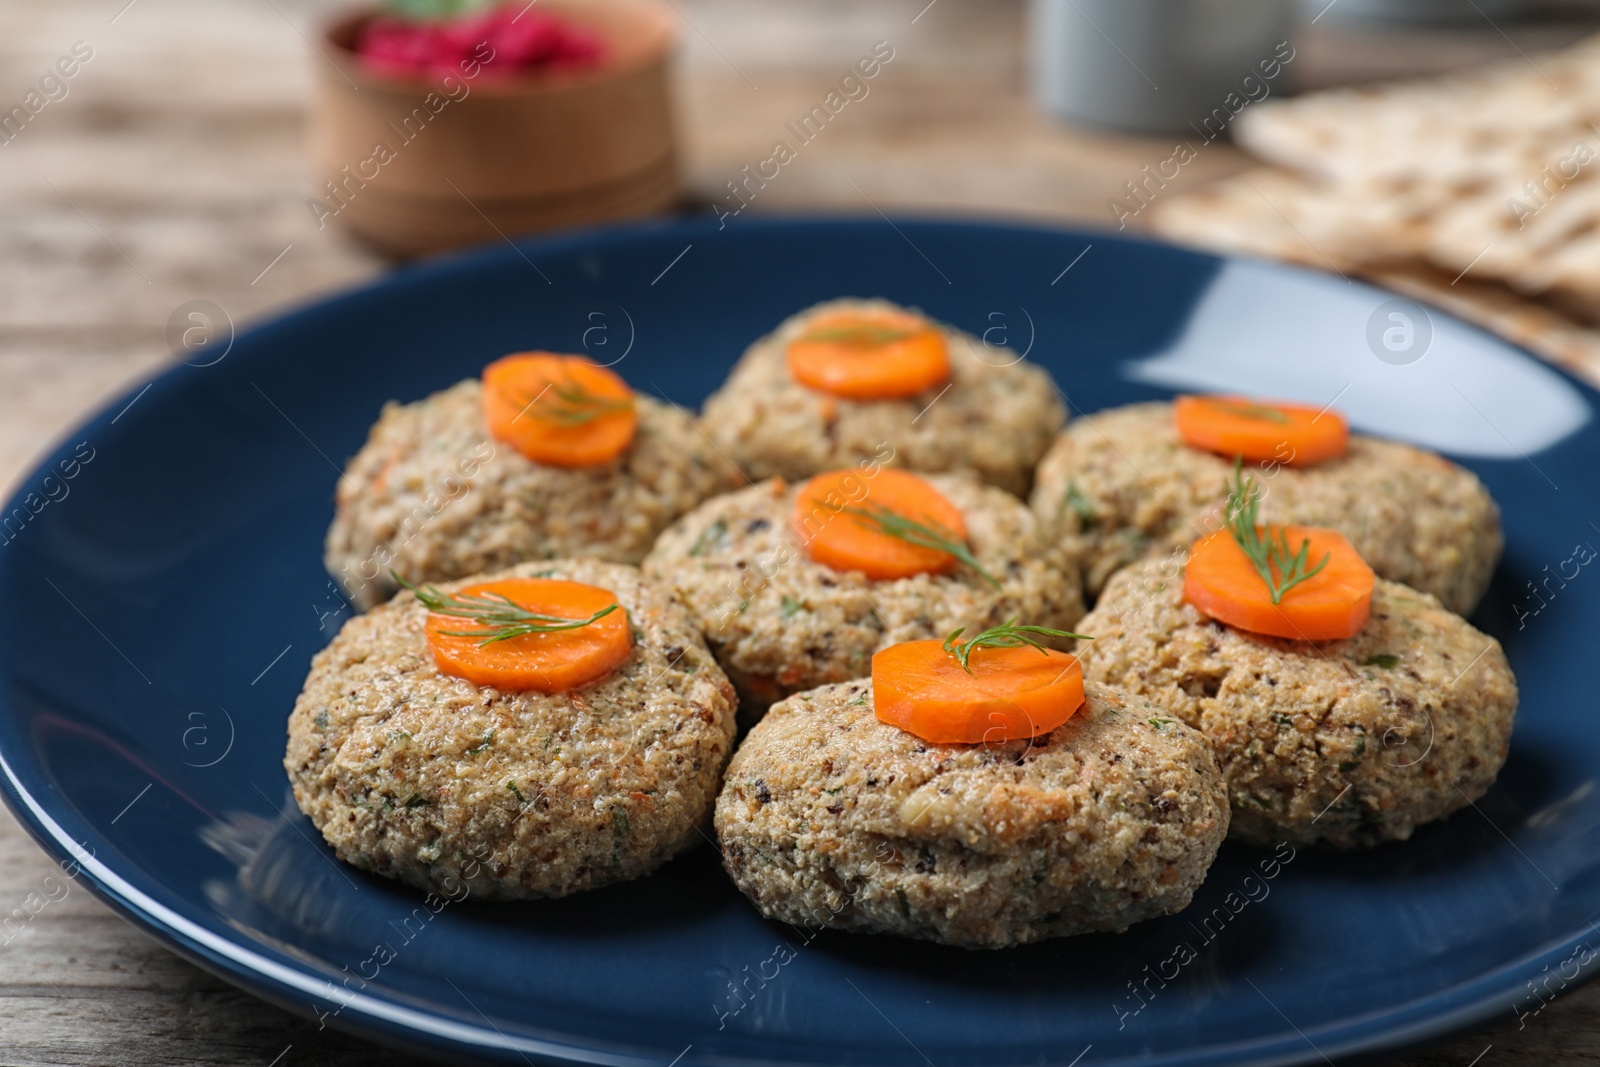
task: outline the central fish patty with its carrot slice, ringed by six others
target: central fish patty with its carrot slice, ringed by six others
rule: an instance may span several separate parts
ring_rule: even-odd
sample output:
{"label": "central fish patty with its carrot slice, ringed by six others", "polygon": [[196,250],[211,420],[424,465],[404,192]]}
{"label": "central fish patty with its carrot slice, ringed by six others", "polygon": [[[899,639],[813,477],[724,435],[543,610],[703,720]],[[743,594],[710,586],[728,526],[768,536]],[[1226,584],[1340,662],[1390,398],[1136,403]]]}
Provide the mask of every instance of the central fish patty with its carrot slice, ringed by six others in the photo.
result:
{"label": "central fish patty with its carrot slice, ringed by six others", "polygon": [[[978,632],[1011,616],[1070,629],[1083,614],[1072,558],[1038,537],[1034,515],[1010,493],[872,464],[830,475],[837,512],[824,494],[797,515],[816,480],[774,478],[706,501],[645,558],[645,574],[688,605],[744,718],[789,693],[866,677],[872,654],[894,641],[942,638],[960,625]],[[917,526],[963,537],[978,568],[886,536],[880,506],[906,512],[915,525],[896,528],[914,539]],[[947,528],[957,520],[963,530]],[[928,569],[915,569],[918,558]]]}

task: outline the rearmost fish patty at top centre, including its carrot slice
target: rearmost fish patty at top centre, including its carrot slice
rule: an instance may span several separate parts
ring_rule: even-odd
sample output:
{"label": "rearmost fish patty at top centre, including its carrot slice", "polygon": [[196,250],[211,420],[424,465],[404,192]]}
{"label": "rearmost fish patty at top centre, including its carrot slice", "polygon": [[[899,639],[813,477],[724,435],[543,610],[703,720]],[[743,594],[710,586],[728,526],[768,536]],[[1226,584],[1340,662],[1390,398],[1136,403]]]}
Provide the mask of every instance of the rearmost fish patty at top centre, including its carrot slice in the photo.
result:
{"label": "rearmost fish patty at top centre, including its carrot slice", "polygon": [[[922,350],[926,334],[942,362]],[[1026,494],[1067,413],[1048,371],[990,339],[888,301],[827,301],[755,341],[702,422],[752,478],[794,482],[877,458]]]}

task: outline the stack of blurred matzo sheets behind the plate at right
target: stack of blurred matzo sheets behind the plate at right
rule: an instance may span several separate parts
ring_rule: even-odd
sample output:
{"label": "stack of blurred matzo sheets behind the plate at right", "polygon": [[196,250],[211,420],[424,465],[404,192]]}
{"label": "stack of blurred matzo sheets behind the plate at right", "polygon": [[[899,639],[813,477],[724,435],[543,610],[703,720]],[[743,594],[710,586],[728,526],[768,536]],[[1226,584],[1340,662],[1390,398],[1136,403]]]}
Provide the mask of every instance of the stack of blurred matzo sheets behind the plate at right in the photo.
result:
{"label": "stack of blurred matzo sheets behind the plate at right", "polygon": [[1362,274],[1600,381],[1600,37],[1245,110],[1274,166],[1154,206],[1176,240]]}

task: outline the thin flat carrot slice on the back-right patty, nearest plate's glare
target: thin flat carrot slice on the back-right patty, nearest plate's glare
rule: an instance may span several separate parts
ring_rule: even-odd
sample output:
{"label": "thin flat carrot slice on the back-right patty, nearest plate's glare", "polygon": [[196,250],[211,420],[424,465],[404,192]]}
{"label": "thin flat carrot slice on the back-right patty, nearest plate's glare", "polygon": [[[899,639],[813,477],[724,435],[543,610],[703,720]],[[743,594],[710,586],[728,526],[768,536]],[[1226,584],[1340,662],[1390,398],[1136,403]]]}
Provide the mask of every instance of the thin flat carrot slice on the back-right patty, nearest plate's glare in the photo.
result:
{"label": "thin flat carrot slice on the back-right patty, nearest plate's glare", "polygon": [[1291,467],[1342,456],[1350,426],[1333,410],[1245,397],[1179,397],[1178,435],[1190,448]]}

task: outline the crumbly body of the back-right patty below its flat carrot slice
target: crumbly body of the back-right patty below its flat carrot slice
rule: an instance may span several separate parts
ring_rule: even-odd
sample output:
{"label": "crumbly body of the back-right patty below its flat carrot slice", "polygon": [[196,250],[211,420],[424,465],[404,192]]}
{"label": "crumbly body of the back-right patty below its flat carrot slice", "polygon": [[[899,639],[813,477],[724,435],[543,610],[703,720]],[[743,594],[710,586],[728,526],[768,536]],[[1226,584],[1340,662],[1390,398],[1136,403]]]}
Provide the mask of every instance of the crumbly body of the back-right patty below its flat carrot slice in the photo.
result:
{"label": "crumbly body of the back-right patty below its flat carrot slice", "polygon": [[[1341,531],[1379,577],[1469,613],[1499,560],[1499,509],[1477,475],[1430,451],[1350,435],[1314,467],[1246,467],[1261,518]],[[1034,512],[1083,563],[1093,600],[1110,574],[1221,528],[1230,459],[1189,448],[1173,405],[1139,403],[1075,421],[1038,466]]]}

